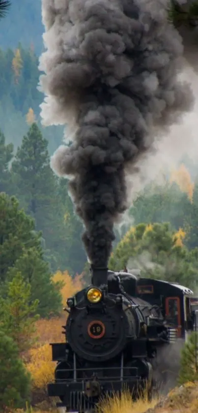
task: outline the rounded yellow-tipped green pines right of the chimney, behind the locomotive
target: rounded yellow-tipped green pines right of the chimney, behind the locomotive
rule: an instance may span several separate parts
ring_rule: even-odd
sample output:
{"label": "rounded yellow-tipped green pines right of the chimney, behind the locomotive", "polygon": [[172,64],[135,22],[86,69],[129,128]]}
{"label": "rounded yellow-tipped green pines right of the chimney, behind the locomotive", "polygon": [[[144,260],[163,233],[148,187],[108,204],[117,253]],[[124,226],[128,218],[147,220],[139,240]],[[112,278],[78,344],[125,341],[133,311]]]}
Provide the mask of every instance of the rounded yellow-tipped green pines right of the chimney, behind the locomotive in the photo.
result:
{"label": "rounded yellow-tipped green pines right of the chimney, behind the locomotive", "polygon": [[[194,288],[197,284],[197,251],[178,245],[178,232],[169,223],[132,226],[117,244],[109,267],[141,269],[142,277],[173,281]],[[128,264],[130,263],[130,264]]]}

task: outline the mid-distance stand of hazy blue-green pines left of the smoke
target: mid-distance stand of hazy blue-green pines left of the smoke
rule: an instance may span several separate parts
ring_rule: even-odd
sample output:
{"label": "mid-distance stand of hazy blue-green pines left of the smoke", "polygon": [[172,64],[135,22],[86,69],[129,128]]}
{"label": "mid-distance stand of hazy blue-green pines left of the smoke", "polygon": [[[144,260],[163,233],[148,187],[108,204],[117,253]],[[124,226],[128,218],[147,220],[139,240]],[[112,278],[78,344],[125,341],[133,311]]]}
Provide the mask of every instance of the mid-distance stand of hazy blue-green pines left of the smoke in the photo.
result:
{"label": "mid-distance stand of hazy blue-green pines left of the smoke", "polygon": [[[0,134],[0,191],[17,196],[20,206],[42,231],[45,257],[52,270],[81,272],[85,253],[82,224],[74,215],[67,183],[57,179],[50,167],[48,142],[33,123],[16,155],[13,145]],[[11,168],[9,164],[11,162]]]}

